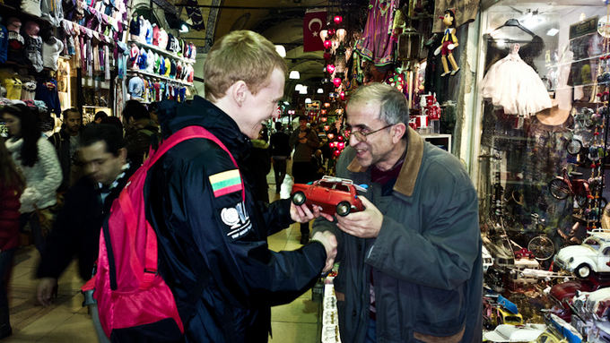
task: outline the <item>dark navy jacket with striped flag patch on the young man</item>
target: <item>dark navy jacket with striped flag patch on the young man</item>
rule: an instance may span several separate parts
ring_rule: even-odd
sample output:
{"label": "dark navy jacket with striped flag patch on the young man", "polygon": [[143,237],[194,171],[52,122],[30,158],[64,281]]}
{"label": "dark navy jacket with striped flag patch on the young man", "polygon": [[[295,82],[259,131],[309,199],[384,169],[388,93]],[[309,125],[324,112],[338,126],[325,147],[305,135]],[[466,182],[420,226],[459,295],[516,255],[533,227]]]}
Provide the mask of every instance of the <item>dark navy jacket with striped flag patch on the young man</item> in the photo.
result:
{"label": "dark navy jacket with striped flag patch on the young man", "polygon": [[[290,201],[268,209],[254,201],[251,173],[242,168],[251,143],[230,116],[200,97],[163,102],[159,113],[164,136],[201,125],[218,137],[237,160],[245,187],[245,202],[241,191],[214,196],[210,180],[235,167],[205,139],[179,143],[147,176],[147,219],[159,236],[159,270],[176,297],[185,341],[266,342],[270,306],[288,303],[312,286],[326,261],[324,246],[269,250],[266,237],[292,222]],[[197,278],[206,285],[191,295]]]}

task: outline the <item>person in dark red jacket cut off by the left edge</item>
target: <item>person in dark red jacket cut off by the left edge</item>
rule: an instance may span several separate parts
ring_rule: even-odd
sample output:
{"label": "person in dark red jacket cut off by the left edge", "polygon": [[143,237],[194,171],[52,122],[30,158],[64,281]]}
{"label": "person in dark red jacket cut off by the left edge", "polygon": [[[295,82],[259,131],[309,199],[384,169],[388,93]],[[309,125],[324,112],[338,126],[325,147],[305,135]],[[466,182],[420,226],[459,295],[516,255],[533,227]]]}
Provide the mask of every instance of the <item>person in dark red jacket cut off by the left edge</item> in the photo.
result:
{"label": "person in dark red jacket cut off by the left edge", "polygon": [[13,255],[19,245],[19,197],[23,188],[25,180],[0,137],[0,339],[12,333],[7,284],[11,279]]}

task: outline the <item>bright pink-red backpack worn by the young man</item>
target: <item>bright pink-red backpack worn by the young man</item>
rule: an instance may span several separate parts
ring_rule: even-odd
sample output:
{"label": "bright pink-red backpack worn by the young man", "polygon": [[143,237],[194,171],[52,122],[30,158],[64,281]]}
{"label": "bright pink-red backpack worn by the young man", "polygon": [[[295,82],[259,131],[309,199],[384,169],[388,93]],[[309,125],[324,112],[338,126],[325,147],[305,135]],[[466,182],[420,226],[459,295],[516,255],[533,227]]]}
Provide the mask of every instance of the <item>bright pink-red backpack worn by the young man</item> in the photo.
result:
{"label": "bright pink-red backpack worn by the young man", "polygon": [[184,333],[174,296],[157,272],[157,237],[146,220],[144,182],[165,152],[191,138],[216,142],[237,167],[212,133],[187,126],[163,141],[129,178],[101,228],[96,273],[83,286],[83,291],[94,287],[101,327],[113,342],[176,341]]}

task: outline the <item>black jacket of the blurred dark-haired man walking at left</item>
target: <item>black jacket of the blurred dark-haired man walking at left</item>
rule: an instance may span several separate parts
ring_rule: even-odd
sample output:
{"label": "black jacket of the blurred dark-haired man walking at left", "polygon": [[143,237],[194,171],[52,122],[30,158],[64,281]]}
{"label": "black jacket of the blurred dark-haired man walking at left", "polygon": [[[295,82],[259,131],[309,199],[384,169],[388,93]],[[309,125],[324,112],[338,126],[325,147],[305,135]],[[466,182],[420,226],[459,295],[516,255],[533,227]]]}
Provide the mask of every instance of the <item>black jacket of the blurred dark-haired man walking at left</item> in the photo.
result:
{"label": "black jacket of the blurred dark-haired man walking at left", "polygon": [[76,255],[81,278],[91,279],[93,264],[98,258],[101,223],[134,172],[132,165],[118,179],[118,184],[111,187],[104,203],[101,203],[100,190],[88,176],[83,176],[68,190],[64,208],[47,236],[37,273],[39,278],[57,279]]}

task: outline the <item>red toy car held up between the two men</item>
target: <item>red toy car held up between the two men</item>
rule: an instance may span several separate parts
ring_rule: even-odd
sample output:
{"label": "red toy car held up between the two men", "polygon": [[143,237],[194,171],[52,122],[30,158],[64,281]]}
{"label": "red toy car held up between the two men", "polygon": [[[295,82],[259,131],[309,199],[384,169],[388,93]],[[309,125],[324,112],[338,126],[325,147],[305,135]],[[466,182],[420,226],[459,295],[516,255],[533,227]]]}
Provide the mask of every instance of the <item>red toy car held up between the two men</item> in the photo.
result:
{"label": "red toy car held up between the two men", "polygon": [[366,192],[366,187],[353,184],[352,180],[324,176],[311,184],[294,184],[292,186],[292,202],[295,205],[318,205],[322,212],[339,216],[347,216],[352,212],[364,210],[362,201],[358,199],[357,191]]}

